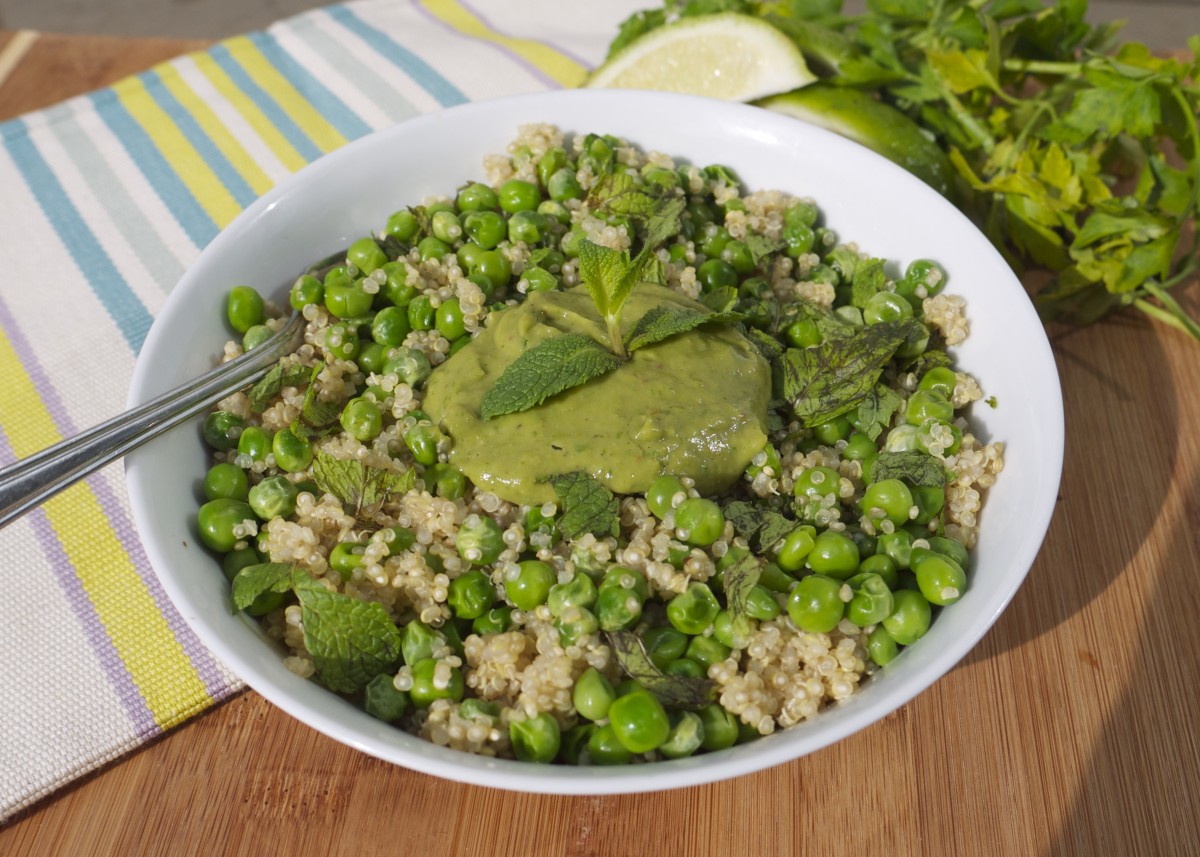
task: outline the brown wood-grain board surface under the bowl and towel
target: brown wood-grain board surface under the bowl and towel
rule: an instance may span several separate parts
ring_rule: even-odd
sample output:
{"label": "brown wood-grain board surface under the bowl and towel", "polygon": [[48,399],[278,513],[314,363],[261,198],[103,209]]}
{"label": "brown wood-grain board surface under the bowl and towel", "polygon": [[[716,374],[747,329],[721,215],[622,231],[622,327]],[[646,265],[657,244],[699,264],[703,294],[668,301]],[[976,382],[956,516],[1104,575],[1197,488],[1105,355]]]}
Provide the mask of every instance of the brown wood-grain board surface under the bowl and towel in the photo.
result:
{"label": "brown wood-grain board surface under the bowl and towel", "polygon": [[[194,47],[42,36],[0,118]],[[1051,334],[1067,454],[1028,580],[958,667],[834,747],[539,797],[376,761],[248,691],[34,807],[0,855],[1195,855],[1200,346],[1140,317]]]}

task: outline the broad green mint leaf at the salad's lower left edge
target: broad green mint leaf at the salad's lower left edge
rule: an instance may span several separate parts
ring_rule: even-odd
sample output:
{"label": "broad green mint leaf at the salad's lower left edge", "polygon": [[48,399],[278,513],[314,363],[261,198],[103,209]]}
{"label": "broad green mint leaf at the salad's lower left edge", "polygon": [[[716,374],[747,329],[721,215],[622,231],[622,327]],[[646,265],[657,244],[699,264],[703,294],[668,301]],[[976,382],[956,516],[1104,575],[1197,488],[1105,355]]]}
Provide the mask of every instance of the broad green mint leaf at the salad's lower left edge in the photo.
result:
{"label": "broad green mint leaf at the salad's lower left edge", "polygon": [[305,647],[326,688],[356,693],[400,663],[400,629],[382,604],[329,592],[307,575],[295,593]]}

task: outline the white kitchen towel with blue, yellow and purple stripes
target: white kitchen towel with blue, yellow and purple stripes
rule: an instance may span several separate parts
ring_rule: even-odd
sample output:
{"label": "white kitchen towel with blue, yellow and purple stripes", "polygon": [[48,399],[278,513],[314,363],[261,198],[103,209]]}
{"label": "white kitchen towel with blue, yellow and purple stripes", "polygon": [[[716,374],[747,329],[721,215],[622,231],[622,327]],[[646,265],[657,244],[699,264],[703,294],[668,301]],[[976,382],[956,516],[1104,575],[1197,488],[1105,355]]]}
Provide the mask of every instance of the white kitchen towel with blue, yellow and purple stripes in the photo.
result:
{"label": "white kitchen towel with blue, yellow and purple stripes", "polygon": [[[346,142],[572,86],[638,0],[356,0],[0,124],[0,466],[124,406],[167,293]],[[240,688],[175,613],[109,467],[0,531],[0,821]]]}

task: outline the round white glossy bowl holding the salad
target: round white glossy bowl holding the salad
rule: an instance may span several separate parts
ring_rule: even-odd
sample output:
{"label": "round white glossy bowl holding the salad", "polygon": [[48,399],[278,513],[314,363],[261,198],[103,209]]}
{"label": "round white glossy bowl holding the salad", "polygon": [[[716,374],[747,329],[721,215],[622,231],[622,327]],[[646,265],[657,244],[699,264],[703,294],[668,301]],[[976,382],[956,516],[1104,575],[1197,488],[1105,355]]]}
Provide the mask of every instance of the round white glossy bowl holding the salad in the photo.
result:
{"label": "round white glossy bowl holding the salad", "polygon": [[847,702],[762,741],[635,767],[534,766],[434,747],[298,678],[253,621],[232,612],[217,562],[192,521],[206,453],[196,425],[127,460],[130,497],[162,585],[196,634],[250,687],[313,729],[379,759],[476,785],[547,793],[672,789],[779,765],[899,708],[986,633],[1024,580],[1055,505],[1062,468],[1062,395],[1045,334],[1020,283],[949,203],[869,150],[794,119],[742,104],[658,92],[577,90],[456,107],[371,134],[323,157],[251,205],[172,292],[139,355],[130,404],[214,365],[228,338],[222,300],[235,283],[286,295],[299,270],[428,194],[482,176],[526,122],[624,137],[696,164],[731,166],[751,190],[817,200],[844,240],[901,265],[937,259],[967,300],[971,336],[955,349],[998,407],[976,406],[982,435],[1006,444],[989,492],[966,595],[929,634]]}

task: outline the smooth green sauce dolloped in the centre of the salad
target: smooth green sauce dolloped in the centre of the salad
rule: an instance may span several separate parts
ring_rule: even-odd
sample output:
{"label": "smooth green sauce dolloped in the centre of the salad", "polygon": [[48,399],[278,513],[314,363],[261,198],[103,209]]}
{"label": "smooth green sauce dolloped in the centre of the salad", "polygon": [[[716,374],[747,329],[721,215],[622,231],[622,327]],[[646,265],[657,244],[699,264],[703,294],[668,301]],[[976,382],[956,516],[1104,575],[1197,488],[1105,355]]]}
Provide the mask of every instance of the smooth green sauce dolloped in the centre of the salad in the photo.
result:
{"label": "smooth green sauce dolloped in the centre of the salad", "polygon": [[[626,328],[664,304],[704,307],[643,283],[623,308]],[[708,324],[641,348],[608,374],[542,404],[491,420],[484,394],[523,352],[564,332],[606,342],[587,289],[536,292],[496,312],[426,386],[425,410],[450,436],[451,463],[511,503],[552,502],[545,481],[588,473],[617,493],[644,493],[655,477],[691,477],[701,495],[728,489],[767,443],[770,368],[728,325]]]}

